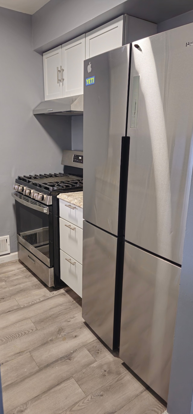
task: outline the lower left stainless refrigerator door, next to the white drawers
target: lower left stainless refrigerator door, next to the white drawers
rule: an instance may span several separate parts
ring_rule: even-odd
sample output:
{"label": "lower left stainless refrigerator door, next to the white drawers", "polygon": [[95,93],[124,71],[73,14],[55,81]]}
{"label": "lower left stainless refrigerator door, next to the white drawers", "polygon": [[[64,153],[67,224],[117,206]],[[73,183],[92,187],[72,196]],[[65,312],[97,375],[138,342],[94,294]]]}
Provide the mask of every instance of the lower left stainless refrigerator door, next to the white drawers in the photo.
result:
{"label": "lower left stainless refrigerator door, next to the white drawers", "polygon": [[117,238],[83,221],[82,317],[112,349]]}

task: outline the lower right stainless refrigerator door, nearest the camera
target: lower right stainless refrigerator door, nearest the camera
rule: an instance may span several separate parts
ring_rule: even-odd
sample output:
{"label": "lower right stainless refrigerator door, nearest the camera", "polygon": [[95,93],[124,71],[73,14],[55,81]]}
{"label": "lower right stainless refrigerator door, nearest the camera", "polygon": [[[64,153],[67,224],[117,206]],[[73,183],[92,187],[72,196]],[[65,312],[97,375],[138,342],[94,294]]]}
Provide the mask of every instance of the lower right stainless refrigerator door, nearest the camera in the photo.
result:
{"label": "lower right stainless refrigerator door, nearest the camera", "polygon": [[120,358],[166,401],[180,273],[125,243]]}

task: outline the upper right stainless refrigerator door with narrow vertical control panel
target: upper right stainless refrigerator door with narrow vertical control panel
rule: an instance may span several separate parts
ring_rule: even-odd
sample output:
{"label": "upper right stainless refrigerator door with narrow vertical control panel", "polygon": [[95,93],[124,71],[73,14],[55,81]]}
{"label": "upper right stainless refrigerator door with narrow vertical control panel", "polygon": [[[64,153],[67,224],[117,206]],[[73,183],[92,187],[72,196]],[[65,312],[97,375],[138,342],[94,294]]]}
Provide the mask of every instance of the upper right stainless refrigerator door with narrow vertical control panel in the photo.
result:
{"label": "upper right stainless refrigerator door with narrow vertical control panel", "polygon": [[186,24],[131,53],[125,238],[178,264],[193,164],[192,33]]}

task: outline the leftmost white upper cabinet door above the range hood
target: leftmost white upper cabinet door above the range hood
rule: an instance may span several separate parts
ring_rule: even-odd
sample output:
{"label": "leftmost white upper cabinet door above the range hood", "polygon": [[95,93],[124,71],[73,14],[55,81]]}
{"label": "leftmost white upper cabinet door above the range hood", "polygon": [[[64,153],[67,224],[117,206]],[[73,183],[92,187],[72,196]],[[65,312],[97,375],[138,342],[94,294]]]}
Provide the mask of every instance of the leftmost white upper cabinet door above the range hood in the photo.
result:
{"label": "leftmost white upper cabinet door above the range hood", "polygon": [[62,46],[43,53],[43,75],[45,101],[62,98]]}

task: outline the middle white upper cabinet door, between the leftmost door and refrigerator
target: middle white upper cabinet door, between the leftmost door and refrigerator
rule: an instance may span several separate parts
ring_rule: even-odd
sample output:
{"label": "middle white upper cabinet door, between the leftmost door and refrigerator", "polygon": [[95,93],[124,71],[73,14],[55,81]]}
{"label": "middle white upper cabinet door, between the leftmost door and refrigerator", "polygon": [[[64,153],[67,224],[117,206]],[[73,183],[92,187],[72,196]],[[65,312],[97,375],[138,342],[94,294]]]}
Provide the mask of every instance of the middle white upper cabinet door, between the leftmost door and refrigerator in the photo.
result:
{"label": "middle white upper cabinet door, between the leftmost door and refrigerator", "polygon": [[62,45],[63,97],[83,94],[85,34]]}

